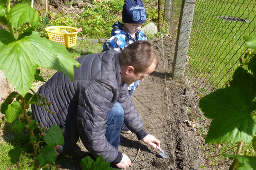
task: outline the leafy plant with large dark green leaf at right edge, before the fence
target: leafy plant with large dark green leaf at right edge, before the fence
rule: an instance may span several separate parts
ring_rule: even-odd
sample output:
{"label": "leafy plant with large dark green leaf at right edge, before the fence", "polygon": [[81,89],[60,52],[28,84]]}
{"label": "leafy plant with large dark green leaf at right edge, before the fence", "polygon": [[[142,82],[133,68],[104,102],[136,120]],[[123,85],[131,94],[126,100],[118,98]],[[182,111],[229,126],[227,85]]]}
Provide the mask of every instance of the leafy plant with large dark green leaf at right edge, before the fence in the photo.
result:
{"label": "leafy plant with large dark green leaf at right edge, before the fence", "polygon": [[[237,170],[256,170],[256,36],[248,35],[244,39],[249,48],[245,53],[245,62],[239,59],[240,66],[235,70],[229,86],[199,101],[204,115],[212,119],[205,142],[238,144],[235,155],[225,155],[234,159],[229,170],[234,167]],[[244,143],[252,143],[251,155],[241,152]]]}

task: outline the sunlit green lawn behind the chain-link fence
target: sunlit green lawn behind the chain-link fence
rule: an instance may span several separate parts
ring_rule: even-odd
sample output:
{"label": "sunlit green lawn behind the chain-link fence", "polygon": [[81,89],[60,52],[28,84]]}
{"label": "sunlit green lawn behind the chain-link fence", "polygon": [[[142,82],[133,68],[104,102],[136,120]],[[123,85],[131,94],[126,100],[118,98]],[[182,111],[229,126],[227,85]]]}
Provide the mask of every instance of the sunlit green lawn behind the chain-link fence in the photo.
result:
{"label": "sunlit green lawn behind the chain-link fence", "polygon": [[[207,77],[217,87],[225,85],[246,51],[243,36],[255,34],[255,4],[253,0],[196,1],[188,51],[191,76]],[[247,19],[250,23],[217,16]]]}

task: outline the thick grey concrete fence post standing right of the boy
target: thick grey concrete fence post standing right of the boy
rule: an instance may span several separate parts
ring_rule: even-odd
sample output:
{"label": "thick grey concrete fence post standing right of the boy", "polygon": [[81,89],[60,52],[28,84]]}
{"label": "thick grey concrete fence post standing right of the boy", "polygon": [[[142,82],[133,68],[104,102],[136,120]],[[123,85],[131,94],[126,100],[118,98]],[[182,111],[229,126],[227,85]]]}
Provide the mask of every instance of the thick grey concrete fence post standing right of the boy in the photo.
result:
{"label": "thick grey concrete fence post standing right of the boy", "polygon": [[181,81],[184,80],[194,8],[195,0],[183,0],[172,69],[172,78]]}

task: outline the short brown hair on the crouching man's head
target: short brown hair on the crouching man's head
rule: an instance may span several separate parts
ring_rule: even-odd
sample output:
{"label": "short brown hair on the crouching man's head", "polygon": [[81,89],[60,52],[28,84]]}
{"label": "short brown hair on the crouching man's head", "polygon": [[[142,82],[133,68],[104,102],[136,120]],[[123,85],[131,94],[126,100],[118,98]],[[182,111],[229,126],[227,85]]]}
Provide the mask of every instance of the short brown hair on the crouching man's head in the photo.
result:
{"label": "short brown hair on the crouching man's head", "polygon": [[142,73],[155,63],[158,66],[158,58],[155,49],[148,41],[136,41],[125,47],[120,53],[122,65],[133,66],[134,73]]}

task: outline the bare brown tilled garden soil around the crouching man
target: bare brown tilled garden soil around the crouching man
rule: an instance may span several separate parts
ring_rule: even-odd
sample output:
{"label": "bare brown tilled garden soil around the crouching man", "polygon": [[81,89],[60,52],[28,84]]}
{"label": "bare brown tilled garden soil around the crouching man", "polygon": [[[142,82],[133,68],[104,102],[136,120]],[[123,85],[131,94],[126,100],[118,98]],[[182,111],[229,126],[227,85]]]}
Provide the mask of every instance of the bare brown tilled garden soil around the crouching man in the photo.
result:
{"label": "bare brown tilled garden soil around the crouching man", "polygon": [[[144,122],[146,132],[161,141],[161,148],[169,154],[165,159],[157,149],[138,141],[135,134],[122,134],[119,151],[133,161],[129,170],[200,170],[205,165],[199,138],[188,120],[188,97],[183,85],[171,77],[174,41],[164,37],[150,39],[159,56],[159,66],[146,77],[132,96]],[[88,155],[81,142],[70,153],[60,155],[56,164],[61,170],[81,170],[80,161]]]}

